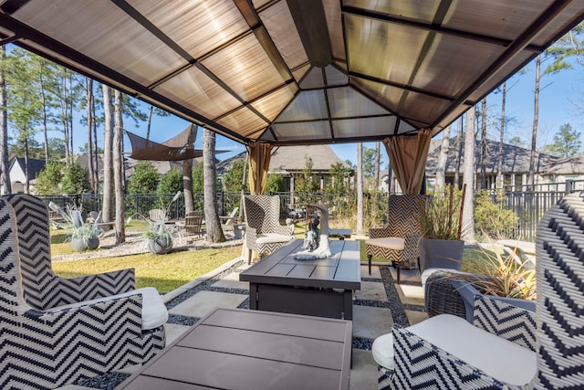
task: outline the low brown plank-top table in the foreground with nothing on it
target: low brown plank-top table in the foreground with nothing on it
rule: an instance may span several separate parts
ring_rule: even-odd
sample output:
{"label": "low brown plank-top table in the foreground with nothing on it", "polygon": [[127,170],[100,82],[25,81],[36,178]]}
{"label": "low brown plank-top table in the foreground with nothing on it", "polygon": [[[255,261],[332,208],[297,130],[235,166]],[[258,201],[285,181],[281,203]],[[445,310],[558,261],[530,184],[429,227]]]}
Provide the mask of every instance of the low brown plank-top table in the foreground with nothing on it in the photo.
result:
{"label": "low brown plank-top table in the foreground with nothing on it", "polygon": [[352,322],[215,309],[117,389],[349,389]]}

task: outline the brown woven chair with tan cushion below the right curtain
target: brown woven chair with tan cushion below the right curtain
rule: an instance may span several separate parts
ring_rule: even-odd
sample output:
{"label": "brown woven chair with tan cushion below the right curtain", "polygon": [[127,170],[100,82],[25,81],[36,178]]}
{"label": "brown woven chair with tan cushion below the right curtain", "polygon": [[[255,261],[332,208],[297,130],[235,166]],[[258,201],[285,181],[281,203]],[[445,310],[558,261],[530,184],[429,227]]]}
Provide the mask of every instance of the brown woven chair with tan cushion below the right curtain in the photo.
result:
{"label": "brown woven chair with tan cushion below the right curtain", "polygon": [[365,240],[365,252],[371,274],[371,258],[387,258],[397,269],[418,268],[418,242],[422,237],[420,210],[428,202],[427,195],[390,195],[388,201],[388,224],[386,227],[370,228]]}

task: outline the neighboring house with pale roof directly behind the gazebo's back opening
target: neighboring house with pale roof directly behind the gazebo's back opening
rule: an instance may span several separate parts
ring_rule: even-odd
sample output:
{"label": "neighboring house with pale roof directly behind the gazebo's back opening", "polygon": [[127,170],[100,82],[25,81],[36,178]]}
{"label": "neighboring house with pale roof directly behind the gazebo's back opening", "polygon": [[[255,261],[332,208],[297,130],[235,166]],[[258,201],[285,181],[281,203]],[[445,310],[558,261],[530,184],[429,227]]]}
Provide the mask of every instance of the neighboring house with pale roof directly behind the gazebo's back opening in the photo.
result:
{"label": "neighboring house with pale roof directly behind the gazebo's back opening", "polygon": [[[320,178],[321,187],[330,180],[331,165],[342,163],[350,168],[329,145],[280,146],[272,150],[268,173],[281,174],[286,191],[294,192],[294,177],[303,174],[308,158],[312,159],[312,174]],[[217,175],[223,176],[235,162],[241,160],[245,160],[245,152],[218,163]]]}

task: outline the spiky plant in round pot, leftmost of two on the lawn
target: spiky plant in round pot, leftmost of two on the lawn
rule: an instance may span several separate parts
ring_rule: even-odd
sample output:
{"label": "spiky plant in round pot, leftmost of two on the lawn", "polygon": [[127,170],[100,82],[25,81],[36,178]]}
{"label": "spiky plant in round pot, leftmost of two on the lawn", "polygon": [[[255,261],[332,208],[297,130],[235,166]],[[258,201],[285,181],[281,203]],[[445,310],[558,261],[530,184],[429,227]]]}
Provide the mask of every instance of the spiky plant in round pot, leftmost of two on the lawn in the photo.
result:
{"label": "spiky plant in round pot, leftmost of two on the lawn", "polygon": [[49,202],[48,206],[65,221],[55,222],[55,225],[67,231],[73,250],[78,252],[99,247],[99,235],[102,231],[97,223],[85,221],[83,217],[85,215],[84,211],[78,210],[75,206],[66,206],[63,209],[53,202]]}

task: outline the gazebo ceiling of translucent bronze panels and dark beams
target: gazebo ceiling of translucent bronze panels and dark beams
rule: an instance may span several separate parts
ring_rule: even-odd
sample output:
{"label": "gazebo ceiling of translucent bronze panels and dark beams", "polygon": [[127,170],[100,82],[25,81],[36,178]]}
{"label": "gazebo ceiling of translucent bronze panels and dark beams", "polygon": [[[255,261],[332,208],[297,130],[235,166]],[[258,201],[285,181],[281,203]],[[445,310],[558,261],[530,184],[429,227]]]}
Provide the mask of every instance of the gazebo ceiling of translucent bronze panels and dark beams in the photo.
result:
{"label": "gazebo ceiling of translucent bronze panels and dark beams", "polygon": [[440,132],[584,0],[7,0],[0,37],[238,142]]}

